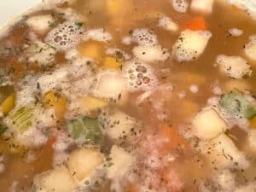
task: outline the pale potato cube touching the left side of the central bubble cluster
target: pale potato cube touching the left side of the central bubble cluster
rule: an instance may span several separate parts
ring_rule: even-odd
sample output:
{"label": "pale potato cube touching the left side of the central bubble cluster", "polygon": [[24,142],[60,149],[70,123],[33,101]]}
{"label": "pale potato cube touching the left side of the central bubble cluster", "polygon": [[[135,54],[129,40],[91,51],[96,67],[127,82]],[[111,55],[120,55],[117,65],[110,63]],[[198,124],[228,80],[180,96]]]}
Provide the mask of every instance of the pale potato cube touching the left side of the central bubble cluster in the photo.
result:
{"label": "pale potato cube touching the left side of the central bubble cluster", "polygon": [[98,74],[94,96],[116,102],[125,90],[125,79],[117,70],[108,69]]}

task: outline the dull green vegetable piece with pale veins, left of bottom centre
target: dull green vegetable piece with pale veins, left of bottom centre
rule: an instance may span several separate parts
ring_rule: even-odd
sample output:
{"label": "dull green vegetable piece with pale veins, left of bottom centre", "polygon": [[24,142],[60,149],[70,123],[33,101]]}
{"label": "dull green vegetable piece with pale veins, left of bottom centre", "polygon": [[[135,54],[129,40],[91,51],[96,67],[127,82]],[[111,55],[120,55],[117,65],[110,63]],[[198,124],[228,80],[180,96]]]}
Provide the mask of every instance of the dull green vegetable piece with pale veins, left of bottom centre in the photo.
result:
{"label": "dull green vegetable piece with pale veins, left of bottom centre", "polygon": [[65,129],[79,143],[102,144],[103,133],[98,119],[81,117],[70,120]]}

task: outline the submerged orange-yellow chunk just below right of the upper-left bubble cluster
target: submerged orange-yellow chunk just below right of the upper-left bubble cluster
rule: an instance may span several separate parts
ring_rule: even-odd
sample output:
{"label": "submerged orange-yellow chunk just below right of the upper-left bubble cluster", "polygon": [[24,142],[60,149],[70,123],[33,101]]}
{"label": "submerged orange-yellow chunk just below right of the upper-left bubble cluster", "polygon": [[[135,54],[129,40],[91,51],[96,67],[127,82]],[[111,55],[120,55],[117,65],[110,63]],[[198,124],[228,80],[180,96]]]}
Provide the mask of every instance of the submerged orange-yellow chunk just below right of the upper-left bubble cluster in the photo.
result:
{"label": "submerged orange-yellow chunk just below right of the upper-left bubble cluster", "polygon": [[79,52],[85,57],[90,57],[96,61],[102,61],[104,46],[102,42],[88,41],[79,46]]}

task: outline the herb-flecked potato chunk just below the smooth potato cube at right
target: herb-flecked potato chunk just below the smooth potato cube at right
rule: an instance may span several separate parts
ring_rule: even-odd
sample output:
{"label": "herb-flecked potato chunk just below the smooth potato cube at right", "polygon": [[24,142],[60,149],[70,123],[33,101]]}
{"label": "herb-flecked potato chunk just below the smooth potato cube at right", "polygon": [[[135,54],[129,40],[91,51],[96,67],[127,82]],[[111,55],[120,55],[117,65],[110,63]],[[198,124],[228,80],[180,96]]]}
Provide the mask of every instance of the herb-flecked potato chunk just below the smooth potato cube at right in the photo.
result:
{"label": "herb-flecked potato chunk just below the smooth potato cube at right", "polygon": [[236,148],[235,143],[224,133],[201,146],[211,166],[216,168],[239,168],[249,166],[245,154]]}

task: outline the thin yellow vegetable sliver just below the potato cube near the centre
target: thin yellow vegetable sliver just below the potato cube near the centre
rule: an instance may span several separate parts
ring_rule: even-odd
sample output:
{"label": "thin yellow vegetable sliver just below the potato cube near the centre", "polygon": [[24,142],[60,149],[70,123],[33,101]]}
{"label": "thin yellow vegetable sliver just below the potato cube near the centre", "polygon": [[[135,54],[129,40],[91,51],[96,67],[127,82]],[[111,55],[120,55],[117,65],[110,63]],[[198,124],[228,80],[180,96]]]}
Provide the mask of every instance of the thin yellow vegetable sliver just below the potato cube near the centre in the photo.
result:
{"label": "thin yellow vegetable sliver just below the potato cube near the centre", "polygon": [[88,111],[93,111],[98,108],[104,108],[108,106],[108,102],[102,101],[92,96],[85,96],[81,100],[81,104]]}

